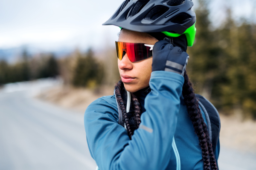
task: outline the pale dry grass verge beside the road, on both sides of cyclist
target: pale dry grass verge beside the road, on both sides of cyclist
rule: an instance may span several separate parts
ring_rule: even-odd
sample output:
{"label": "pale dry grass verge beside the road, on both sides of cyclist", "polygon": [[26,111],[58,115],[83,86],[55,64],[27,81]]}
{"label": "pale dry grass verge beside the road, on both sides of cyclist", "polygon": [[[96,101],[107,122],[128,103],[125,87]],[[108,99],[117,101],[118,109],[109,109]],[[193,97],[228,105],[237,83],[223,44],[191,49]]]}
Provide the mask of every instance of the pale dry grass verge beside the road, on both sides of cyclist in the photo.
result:
{"label": "pale dry grass verge beside the road, on both sides of cyclist", "polygon": [[[114,87],[100,91],[84,88],[55,87],[38,95],[40,99],[84,113],[91,102],[101,96],[113,95]],[[238,116],[221,115],[221,146],[256,153],[256,122]]]}

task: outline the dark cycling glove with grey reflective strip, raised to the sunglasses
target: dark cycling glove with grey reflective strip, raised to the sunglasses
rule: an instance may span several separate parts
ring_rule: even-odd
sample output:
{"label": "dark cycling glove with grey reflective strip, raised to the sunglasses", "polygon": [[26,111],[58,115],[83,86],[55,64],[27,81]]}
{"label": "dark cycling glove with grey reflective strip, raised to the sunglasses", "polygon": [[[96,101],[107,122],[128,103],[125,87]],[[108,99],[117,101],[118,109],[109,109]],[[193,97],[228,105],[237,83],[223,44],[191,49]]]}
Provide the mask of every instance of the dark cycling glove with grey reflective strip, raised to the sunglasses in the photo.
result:
{"label": "dark cycling glove with grey reflective strip, raised to the sunglasses", "polygon": [[184,75],[189,55],[169,40],[161,40],[153,47],[152,71],[170,71]]}

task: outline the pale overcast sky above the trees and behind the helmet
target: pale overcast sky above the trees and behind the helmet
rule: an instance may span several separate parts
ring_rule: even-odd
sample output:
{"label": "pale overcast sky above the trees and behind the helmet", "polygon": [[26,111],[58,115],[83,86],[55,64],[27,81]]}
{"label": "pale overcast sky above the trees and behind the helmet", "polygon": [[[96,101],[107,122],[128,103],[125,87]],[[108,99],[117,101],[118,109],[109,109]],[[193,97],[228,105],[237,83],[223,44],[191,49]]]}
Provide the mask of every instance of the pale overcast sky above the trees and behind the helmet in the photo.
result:
{"label": "pale overcast sky above the trees and behind the helmet", "polygon": [[[119,28],[102,26],[102,23],[122,2],[0,0],[0,48],[30,45],[54,51],[58,48],[86,49],[109,45],[117,40]],[[197,1],[193,2],[196,7]],[[220,23],[228,6],[233,8],[236,18],[250,17],[253,8],[256,9],[256,0],[213,0],[210,4],[212,21]]]}

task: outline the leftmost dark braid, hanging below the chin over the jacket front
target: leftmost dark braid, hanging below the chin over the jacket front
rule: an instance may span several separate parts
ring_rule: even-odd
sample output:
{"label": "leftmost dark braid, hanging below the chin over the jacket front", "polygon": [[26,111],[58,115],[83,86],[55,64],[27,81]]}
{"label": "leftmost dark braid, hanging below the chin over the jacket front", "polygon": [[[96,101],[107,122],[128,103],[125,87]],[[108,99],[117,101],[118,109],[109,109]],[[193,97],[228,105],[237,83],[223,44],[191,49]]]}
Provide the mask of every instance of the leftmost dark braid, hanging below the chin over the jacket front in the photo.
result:
{"label": "leftmost dark braid, hanging below the chin over the jacket front", "polygon": [[128,122],[128,117],[127,117],[127,114],[126,114],[125,104],[124,104],[124,101],[123,101],[122,96],[121,96],[121,87],[122,87],[122,81],[120,80],[118,83],[116,83],[116,86],[115,86],[116,100],[117,100],[117,102],[118,102],[118,104],[121,108],[123,118],[125,118],[125,125],[126,125],[127,131],[128,131],[128,136],[131,139],[132,132],[131,132],[130,124]]}

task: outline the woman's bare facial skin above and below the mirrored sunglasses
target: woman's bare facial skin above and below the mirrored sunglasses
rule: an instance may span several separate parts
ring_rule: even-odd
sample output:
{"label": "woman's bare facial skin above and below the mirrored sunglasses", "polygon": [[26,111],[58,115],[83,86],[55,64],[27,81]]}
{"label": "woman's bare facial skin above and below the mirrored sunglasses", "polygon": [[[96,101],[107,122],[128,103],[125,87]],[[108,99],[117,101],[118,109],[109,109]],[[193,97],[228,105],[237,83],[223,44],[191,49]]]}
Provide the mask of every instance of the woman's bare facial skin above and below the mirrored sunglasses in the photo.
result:
{"label": "woman's bare facial skin above and below the mirrored sunglasses", "polygon": [[[118,41],[154,45],[158,40],[147,33],[122,29]],[[152,57],[138,62],[131,62],[127,57],[127,54],[125,54],[122,60],[118,59],[119,74],[125,85],[125,89],[134,93],[140,89],[148,87],[151,75],[151,65]]]}

